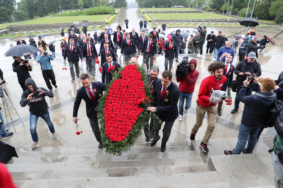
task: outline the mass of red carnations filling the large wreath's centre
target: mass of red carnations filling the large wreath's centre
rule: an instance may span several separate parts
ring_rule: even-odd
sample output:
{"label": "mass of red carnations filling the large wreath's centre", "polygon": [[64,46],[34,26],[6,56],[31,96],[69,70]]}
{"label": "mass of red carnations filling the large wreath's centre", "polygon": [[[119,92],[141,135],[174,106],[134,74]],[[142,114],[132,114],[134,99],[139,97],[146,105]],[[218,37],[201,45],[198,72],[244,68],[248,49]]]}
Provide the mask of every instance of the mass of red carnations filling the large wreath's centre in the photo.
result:
{"label": "mass of red carnations filling the large wreath's centre", "polygon": [[138,106],[145,97],[144,82],[136,64],[127,65],[109,88],[105,100],[105,135],[111,141],[125,140],[138,116],[143,111]]}

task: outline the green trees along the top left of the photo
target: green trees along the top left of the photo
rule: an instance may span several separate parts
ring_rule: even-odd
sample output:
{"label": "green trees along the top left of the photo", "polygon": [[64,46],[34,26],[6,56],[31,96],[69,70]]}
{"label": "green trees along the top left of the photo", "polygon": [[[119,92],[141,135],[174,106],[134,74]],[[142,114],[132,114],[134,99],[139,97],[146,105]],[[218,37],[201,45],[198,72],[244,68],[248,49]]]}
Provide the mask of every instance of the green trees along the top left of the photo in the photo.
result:
{"label": "green trees along the top left of the photo", "polygon": [[[126,0],[0,0],[0,23],[16,22],[45,17],[60,13],[67,9],[93,8],[113,6],[114,8],[127,7]],[[17,8],[16,5],[18,5]],[[111,9],[111,8],[110,8]],[[109,8],[108,8],[109,10]],[[100,11],[100,9],[99,9]]]}

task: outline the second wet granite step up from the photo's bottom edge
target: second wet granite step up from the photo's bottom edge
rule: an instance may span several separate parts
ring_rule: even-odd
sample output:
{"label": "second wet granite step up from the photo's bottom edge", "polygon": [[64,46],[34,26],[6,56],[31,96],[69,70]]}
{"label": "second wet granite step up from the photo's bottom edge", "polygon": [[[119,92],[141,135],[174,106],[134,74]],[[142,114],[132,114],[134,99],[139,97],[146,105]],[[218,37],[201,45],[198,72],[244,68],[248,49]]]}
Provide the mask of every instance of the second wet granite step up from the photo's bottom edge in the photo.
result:
{"label": "second wet granite step up from the photo's bottom edge", "polygon": [[103,169],[54,169],[12,172],[13,180],[47,180],[69,178],[104,178],[123,176],[174,175],[211,171],[208,164],[181,164],[174,166],[121,167]]}

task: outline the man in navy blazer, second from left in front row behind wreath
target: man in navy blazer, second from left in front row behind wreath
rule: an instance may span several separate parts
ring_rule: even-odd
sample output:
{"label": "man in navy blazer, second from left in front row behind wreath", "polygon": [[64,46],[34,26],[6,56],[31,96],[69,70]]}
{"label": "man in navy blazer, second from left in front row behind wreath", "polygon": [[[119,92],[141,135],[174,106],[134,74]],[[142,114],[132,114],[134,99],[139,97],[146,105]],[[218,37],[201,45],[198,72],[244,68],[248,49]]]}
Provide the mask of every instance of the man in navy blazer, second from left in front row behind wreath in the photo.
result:
{"label": "man in navy blazer, second from left in front row behind wreath", "polygon": [[86,44],[83,47],[83,57],[86,58],[86,63],[88,64],[89,70],[91,71],[91,76],[95,77],[95,58],[98,57],[97,51],[94,43],[91,43],[89,38],[86,38]]}

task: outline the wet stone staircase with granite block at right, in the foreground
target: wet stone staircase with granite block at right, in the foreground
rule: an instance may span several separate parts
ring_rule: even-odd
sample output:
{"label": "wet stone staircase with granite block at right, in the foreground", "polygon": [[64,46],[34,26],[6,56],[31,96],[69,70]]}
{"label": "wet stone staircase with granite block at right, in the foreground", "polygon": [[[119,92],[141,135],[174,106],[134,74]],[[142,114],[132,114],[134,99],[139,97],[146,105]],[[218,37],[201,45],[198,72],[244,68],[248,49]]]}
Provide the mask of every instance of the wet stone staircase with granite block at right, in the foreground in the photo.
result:
{"label": "wet stone staircase with granite block at right, in the foreground", "polygon": [[121,156],[97,145],[16,148],[19,158],[7,168],[20,188],[275,187],[270,153],[220,153],[207,162],[206,154],[197,152],[198,142],[168,142],[165,153],[160,153],[161,142],[154,147],[137,143]]}

